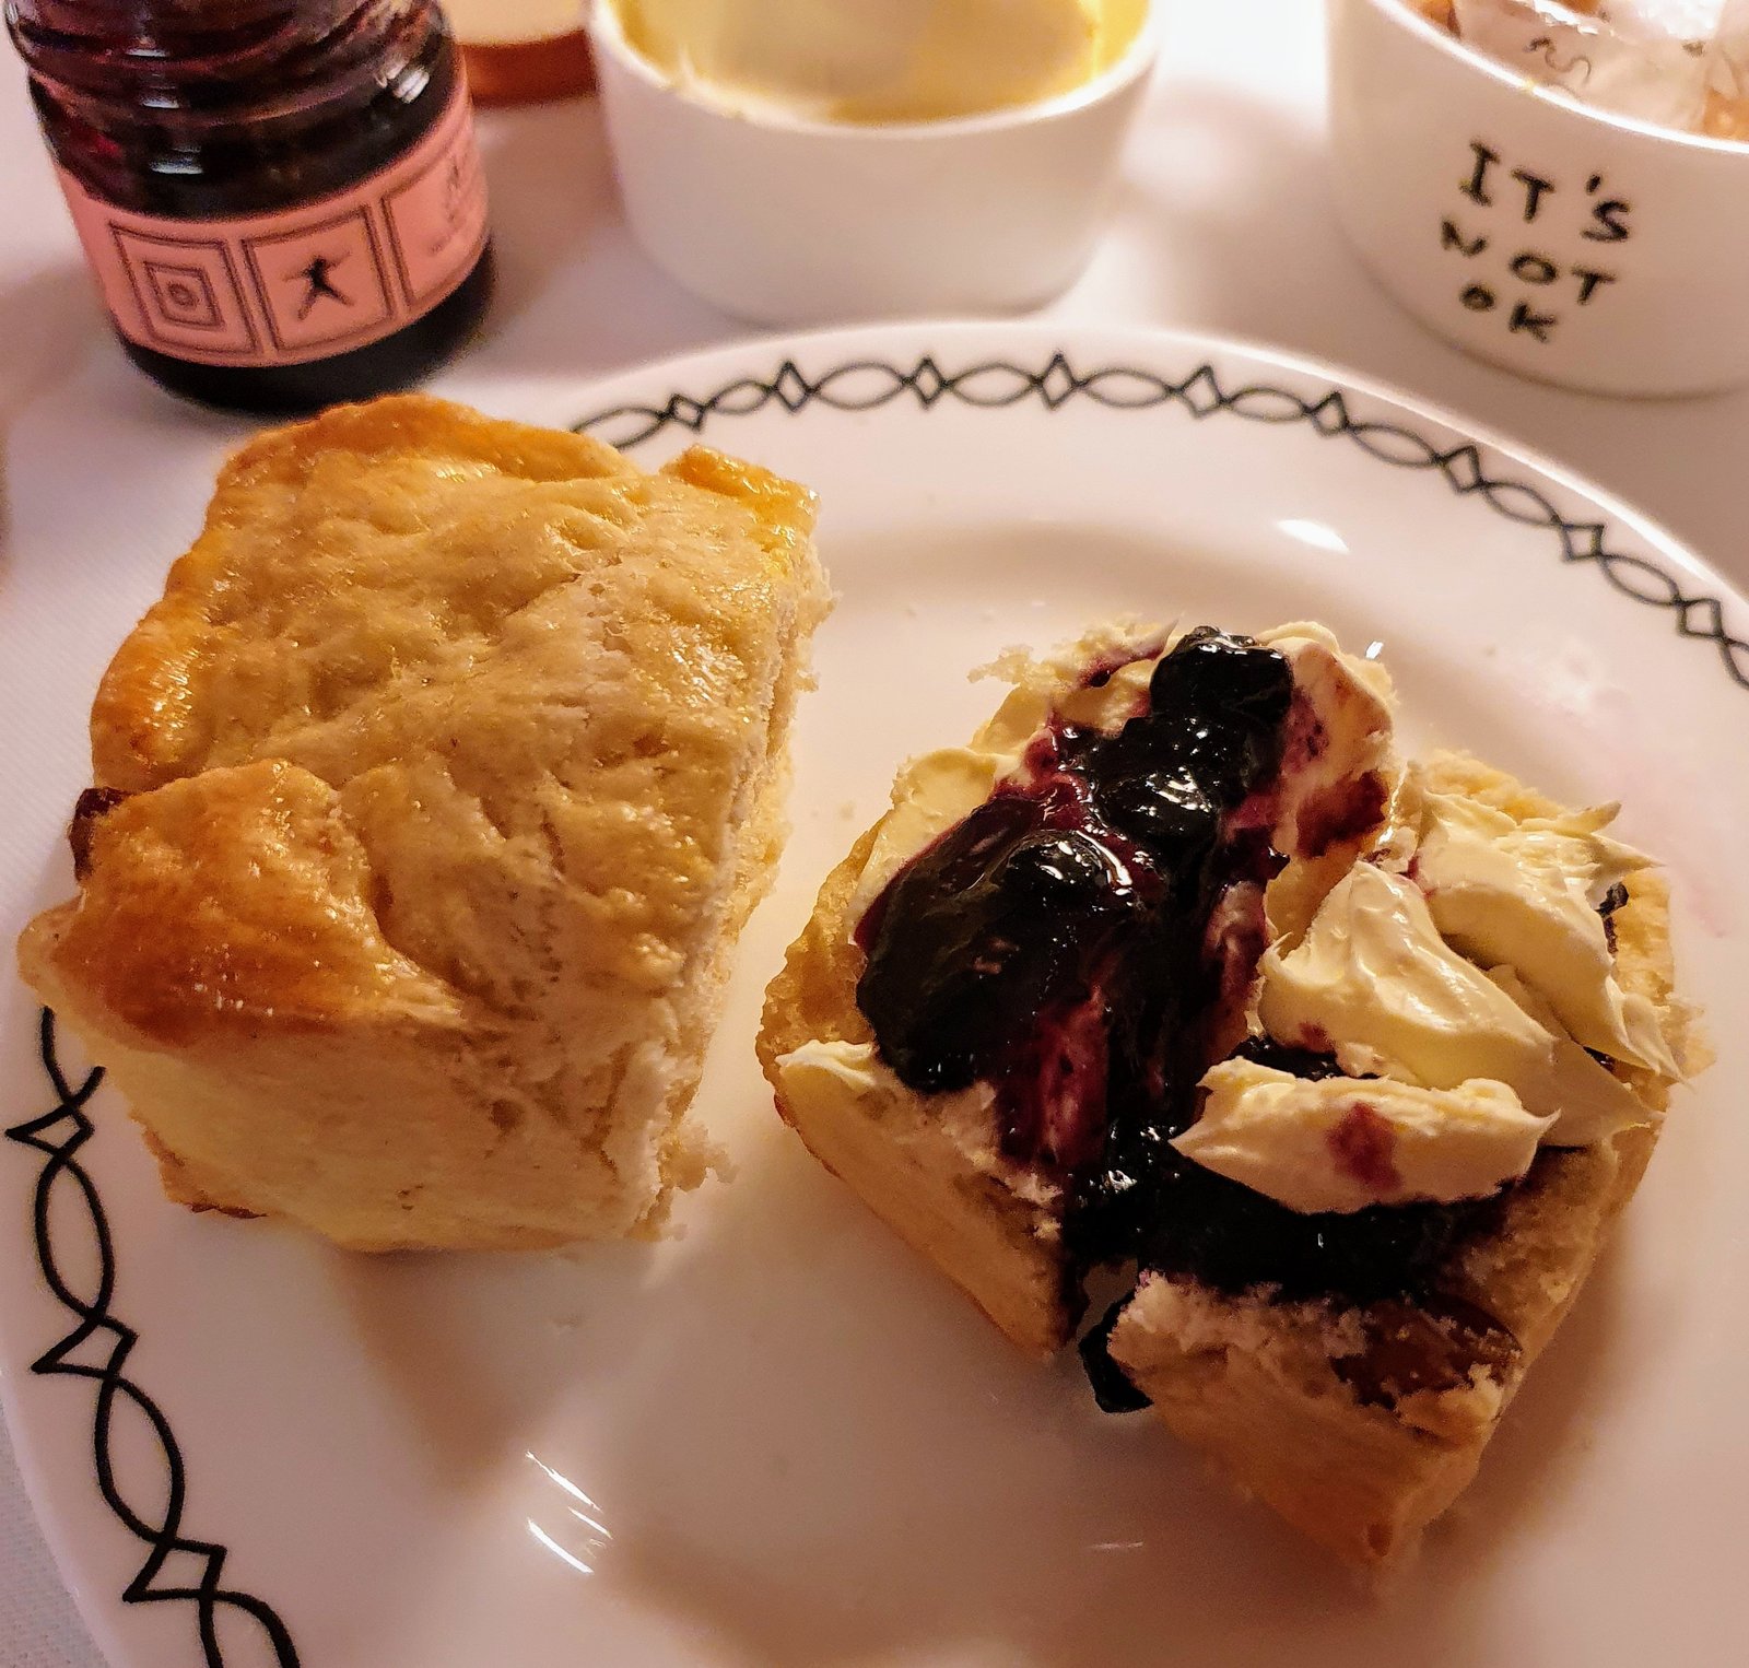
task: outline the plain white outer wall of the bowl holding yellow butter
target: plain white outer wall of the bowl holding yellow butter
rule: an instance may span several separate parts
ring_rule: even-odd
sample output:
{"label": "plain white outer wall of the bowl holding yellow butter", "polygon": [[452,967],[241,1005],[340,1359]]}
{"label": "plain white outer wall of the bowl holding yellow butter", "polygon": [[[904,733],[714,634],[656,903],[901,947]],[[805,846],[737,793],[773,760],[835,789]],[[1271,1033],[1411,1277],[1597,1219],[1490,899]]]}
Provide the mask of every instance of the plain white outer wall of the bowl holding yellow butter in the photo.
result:
{"label": "plain white outer wall of the bowl holding yellow butter", "polygon": [[598,3],[591,33],[626,215],[658,266],[768,325],[1006,313],[1086,264],[1156,56],[988,115],[852,124],[731,114],[668,82]]}

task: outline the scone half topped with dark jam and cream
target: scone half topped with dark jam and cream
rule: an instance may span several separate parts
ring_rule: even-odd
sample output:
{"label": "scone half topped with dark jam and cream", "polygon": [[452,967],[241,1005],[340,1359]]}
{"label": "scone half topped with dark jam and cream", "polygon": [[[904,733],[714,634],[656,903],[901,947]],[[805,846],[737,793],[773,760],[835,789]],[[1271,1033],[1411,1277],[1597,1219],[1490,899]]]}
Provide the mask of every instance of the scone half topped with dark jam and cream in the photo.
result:
{"label": "scone half topped with dark jam and cream", "polygon": [[1081,1343],[1357,1563],[1474,1474],[1690,1058],[1667,893],[1474,759],[1401,766],[1319,626],[1105,631],[913,761],[761,1060],[831,1170],[1034,1352]]}

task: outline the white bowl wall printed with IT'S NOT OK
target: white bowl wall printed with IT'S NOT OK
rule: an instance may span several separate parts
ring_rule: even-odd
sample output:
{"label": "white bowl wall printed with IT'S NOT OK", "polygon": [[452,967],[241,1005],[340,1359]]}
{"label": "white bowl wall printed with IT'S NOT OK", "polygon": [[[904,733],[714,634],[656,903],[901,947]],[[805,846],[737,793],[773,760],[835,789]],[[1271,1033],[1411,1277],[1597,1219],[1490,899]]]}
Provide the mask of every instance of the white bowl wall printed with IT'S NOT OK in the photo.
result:
{"label": "white bowl wall printed with IT'S NOT OK", "polygon": [[1749,145],[1534,86],[1404,0],[1329,0],[1336,212],[1422,323],[1595,393],[1749,381]]}

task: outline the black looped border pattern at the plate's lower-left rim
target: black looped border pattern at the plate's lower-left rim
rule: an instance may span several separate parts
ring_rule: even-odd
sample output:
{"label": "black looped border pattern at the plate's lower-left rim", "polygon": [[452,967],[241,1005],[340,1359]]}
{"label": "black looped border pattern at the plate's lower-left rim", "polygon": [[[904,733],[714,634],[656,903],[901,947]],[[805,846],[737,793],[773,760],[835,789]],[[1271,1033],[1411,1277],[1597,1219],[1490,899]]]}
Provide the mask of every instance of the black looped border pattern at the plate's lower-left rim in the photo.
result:
{"label": "black looped border pattern at the plate's lower-left rim", "polygon": [[[98,1387],[96,1411],[91,1430],[91,1456],[96,1465],[98,1490],[103,1504],[121,1519],[128,1532],[145,1542],[145,1561],[138,1574],[122,1591],[122,1600],[129,1605],[166,1603],[187,1600],[196,1607],[201,1652],[206,1668],[224,1668],[224,1647],[219,1642],[220,1607],[241,1610],[254,1617],[273,1649],[280,1668],[297,1668],[297,1647],[278,1612],[250,1593],[234,1593],[220,1586],[219,1577],[229,1556],[226,1547],[212,1540],[191,1540],[182,1533],[182,1511],[187,1500],[185,1467],[182,1449],[177,1446],[170,1420],[133,1380],[126,1374],[128,1357],[138,1341],[133,1327],[110,1315],[110,1299],[115,1294],[115,1247],[110,1238],[108,1217],[96,1185],[79,1164],[79,1149],[91,1140],[93,1122],[86,1115],[86,1102],[96,1093],[103,1081],[101,1067],[91,1070],[75,1089],[61,1070],[54,1053],[54,1014],[42,1011],[38,1030],[42,1068],[58,1096],[58,1105],[40,1117],[31,1117],[23,1124],[14,1124],[5,1131],[7,1140],[44,1154],[47,1163],[37,1177],[33,1205],[33,1233],[37,1241],[37,1262],[42,1278],[49,1283],[61,1308],[73,1315],[73,1329],[56,1345],[51,1345],[31,1364],[31,1373],[49,1378],[87,1378]],[[91,1233],[98,1248],[98,1289],[91,1297],[82,1297],[73,1290],[72,1282],[61,1273],[54,1259],[54,1241],[51,1231],[49,1201],[58,1182],[73,1189],[84,1205],[91,1222]],[[65,1222],[65,1215],[61,1219]],[[80,1360],[79,1355],[91,1339],[107,1345],[103,1360]],[[168,1486],[159,1521],[152,1523],[122,1497],[110,1462],[110,1425],[115,1420],[117,1400],[126,1400],[145,1416],[152,1427],[152,1435],[164,1456]],[[173,1554],[185,1553],[199,1560],[201,1575],[196,1586],[156,1586],[159,1574]]]}

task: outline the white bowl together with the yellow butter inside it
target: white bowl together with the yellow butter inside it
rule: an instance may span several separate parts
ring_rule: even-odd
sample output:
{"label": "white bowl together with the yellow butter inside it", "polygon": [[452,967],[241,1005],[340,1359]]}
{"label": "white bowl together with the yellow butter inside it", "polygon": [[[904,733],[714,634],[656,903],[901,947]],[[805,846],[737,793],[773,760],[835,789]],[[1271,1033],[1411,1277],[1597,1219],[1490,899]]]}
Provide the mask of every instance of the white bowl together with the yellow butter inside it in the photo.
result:
{"label": "white bowl together with the yellow butter inside it", "polygon": [[1156,45],[1146,0],[600,0],[591,28],[638,241],[771,325],[1049,301],[1093,250]]}

